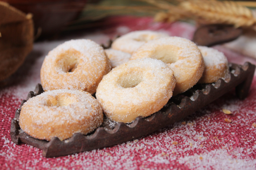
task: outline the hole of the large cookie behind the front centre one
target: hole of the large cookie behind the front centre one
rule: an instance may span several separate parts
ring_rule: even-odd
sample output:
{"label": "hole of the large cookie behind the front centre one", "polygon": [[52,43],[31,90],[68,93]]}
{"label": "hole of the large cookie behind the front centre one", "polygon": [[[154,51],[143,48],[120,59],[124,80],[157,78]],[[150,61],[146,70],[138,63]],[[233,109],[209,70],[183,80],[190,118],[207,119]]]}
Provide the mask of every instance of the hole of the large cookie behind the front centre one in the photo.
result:
{"label": "hole of the large cookie behind the front centre one", "polygon": [[178,55],[168,46],[159,46],[150,58],[161,60],[166,64],[172,64],[178,61]]}

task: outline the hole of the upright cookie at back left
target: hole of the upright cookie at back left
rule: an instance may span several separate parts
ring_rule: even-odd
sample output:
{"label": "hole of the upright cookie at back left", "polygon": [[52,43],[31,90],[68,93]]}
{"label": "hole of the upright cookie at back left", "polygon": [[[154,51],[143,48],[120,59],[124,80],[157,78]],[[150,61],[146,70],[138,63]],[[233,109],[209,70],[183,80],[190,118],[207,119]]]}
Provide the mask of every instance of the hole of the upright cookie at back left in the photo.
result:
{"label": "hole of the upright cookie at back left", "polygon": [[58,66],[65,73],[74,72],[79,64],[80,55],[81,53],[75,49],[66,50],[58,55]]}

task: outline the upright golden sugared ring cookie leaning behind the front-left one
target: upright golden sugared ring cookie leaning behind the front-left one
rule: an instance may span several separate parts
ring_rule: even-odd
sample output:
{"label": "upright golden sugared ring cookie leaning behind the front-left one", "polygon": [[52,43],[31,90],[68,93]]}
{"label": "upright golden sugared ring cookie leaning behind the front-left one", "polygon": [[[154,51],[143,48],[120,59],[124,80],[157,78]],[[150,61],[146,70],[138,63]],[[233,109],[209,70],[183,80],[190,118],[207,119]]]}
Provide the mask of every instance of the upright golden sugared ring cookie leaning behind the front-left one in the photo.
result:
{"label": "upright golden sugared ring cookie leaning behind the front-left one", "polygon": [[75,89],[93,94],[110,70],[110,61],[100,45],[91,40],[70,40],[45,57],[41,84],[45,91]]}

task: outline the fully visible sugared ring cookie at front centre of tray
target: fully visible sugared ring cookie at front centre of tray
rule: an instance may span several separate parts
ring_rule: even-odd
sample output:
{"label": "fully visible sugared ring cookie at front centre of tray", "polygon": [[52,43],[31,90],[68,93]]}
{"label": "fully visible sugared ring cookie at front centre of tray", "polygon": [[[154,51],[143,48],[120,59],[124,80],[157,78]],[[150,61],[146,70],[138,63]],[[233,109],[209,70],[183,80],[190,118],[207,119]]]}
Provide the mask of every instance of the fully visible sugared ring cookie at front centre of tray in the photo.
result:
{"label": "fully visible sugared ring cookie at front centre of tray", "polygon": [[99,83],[96,98],[110,120],[130,123],[160,110],[174,87],[173,71],[165,63],[144,58],[112,69]]}

